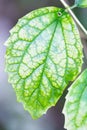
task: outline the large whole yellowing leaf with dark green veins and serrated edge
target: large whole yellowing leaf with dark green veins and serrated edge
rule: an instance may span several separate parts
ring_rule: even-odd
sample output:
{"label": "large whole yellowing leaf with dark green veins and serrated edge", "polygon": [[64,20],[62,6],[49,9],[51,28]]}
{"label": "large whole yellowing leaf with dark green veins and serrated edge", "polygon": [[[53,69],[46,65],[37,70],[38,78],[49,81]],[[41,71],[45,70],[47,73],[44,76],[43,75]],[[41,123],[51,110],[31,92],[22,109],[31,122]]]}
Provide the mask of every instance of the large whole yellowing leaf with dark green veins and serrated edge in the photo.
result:
{"label": "large whole yellowing leaf with dark green veins and serrated edge", "polygon": [[62,12],[46,7],[27,14],[6,42],[9,82],[33,118],[54,106],[81,71],[79,33],[71,16]]}

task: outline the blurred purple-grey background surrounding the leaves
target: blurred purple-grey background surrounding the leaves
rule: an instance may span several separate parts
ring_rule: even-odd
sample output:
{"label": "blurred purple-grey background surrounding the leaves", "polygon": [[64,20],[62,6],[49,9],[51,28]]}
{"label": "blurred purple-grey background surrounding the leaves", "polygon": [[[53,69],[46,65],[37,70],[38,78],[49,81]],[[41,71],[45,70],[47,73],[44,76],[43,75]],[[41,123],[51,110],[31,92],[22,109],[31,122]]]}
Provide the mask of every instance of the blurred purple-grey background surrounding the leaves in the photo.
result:
{"label": "blurred purple-grey background surrounding the leaves", "polygon": [[[68,0],[73,4],[73,0]],[[12,86],[7,81],[7,73],[4,72],[4,55],[6,47],[4,42],[9,36],[9,30],[16,24],[17,20],[26,13],[44,6],[63,7],[59,0],[0,0],[0,130],[65,130],[62,108],[65,95],[55,107],[48,110],[47,114],[38,120],[33,120],[22,105],[16,101]],[[76,16],[87,29],[87,8],[74,9]],[[84,45],[85,64],[87,58],[87,36],[81,32]]]}

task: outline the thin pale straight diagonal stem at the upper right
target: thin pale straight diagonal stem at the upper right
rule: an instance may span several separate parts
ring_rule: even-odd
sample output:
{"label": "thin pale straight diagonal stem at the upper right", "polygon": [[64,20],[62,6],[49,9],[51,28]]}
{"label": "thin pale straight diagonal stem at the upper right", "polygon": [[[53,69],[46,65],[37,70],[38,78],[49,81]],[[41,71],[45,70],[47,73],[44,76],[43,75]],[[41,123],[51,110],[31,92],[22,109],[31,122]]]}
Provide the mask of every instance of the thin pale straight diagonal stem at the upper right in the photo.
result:
{"label": "thin pale straight diagonal stem at the upper right", "polygon": [[79,19],[75,16],[69,5],[64,1],[60,0],[61,3],[64,5],[64,7],[67,9],[67,11],[70,13],[70,15],[73,17],[73,19],[76,21],[76,23],[80,26],[80,28],[83,30],[83,32],[87,35],[87,30],[84,28],[84,26],[80,23]]}

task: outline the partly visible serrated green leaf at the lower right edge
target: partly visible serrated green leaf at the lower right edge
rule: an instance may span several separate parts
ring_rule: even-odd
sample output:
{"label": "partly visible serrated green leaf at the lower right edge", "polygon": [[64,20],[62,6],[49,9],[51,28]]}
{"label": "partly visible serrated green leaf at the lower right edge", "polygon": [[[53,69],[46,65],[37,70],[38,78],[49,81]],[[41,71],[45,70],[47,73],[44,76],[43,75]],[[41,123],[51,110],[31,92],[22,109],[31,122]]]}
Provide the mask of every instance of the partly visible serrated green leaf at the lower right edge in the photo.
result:
{"label": "partly visible serrated green leaf at the lower right edge", "polygon": [[63,113],[67,130],[87,129],[87,69],[69,88]]}

